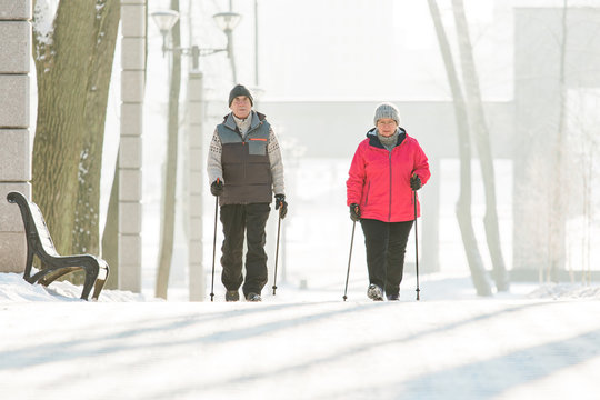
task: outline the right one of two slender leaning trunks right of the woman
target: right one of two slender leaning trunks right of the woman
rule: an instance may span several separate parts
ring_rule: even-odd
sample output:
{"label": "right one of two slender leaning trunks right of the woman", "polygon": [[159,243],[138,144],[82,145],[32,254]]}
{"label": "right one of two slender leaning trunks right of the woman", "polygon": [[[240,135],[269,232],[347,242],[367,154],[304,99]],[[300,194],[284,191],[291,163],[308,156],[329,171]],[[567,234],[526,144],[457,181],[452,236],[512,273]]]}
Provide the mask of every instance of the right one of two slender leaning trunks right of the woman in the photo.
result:
{"label": "right one of two slender leaning trunks right of the woman", "polygon": [[483,103],[479,89],[479,79],[474,66],[472,46],[469,38],[469,27],[464,16],[464,6],[462,0],[452,0],[454,22],[459,38],[459,50],[461,54],[462,78],[469,109],[469,121],[471,122],[472,133],[477,144],[481,174],[483,177],[483,187],[486,191],[486,216],[483,224],[486,227],[486,238],[488,249],[493,267],[493,279],[499,291],[509,289],[509,277],[502,257],[502,247],[500,241],[500,229],[498,227],[498,213],[496,206],[496,183],[493,171],[493,159],[491,154],[489,131],[486,124]]}

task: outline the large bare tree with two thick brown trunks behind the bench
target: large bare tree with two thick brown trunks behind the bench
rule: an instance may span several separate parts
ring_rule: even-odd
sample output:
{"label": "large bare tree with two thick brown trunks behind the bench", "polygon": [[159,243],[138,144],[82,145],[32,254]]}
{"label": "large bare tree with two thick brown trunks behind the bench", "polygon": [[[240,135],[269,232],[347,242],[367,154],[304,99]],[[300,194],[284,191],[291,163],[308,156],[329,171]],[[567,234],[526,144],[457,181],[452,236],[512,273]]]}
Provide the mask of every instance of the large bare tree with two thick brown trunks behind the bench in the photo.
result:
{"label": "large bare tree with two thick brown trunks behind the bench", "polygon": [[[43,4],[34,1],[38,28],[48,18]],[[61,1],[52,29],[33,30],[38,80],[33,198],[60,253],[98,252],[99,171],[119,7],[117,0]]]}

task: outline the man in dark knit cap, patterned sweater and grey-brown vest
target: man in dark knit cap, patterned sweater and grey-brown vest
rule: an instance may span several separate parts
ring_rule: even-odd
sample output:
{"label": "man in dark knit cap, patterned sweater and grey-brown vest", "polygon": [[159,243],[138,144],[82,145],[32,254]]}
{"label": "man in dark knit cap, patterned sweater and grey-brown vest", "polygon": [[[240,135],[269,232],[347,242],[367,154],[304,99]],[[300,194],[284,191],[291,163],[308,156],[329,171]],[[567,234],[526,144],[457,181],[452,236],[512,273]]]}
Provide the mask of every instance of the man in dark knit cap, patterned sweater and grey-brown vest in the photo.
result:
{"label": "man in dark knit cap, patterned sweater and grey-brown vest", "polygon": [[[210,143],[210,191],[219,197],[224,240],[221,282],[226,300],[261,301],[267,283],[264,226],[274,192],[276,210],[286,218],[283,163],[277,137],[264,114],[252,110],[252,93],[242,84],[229,93],[231,112],[217,126]],[[246,279],[242,277],[243,238],[247,238]]]}

